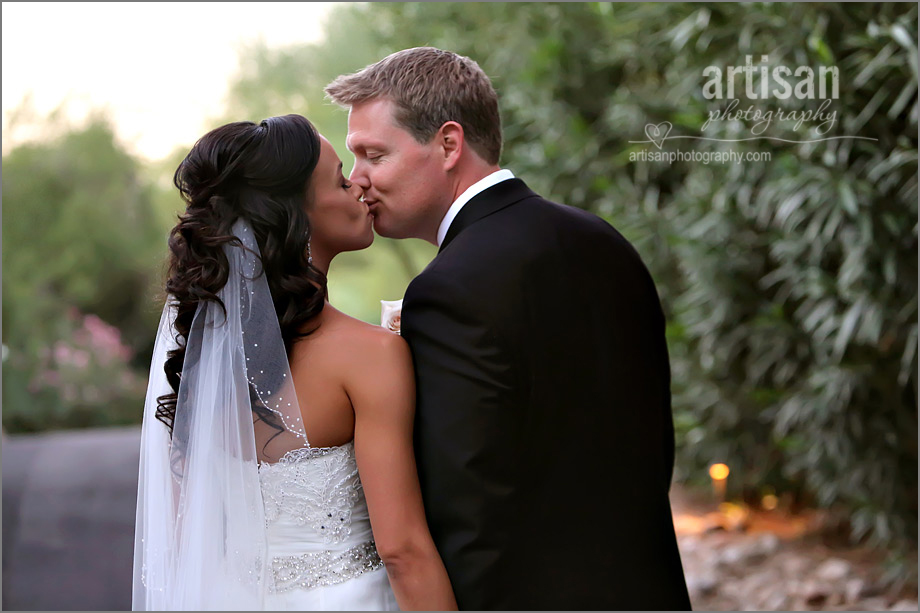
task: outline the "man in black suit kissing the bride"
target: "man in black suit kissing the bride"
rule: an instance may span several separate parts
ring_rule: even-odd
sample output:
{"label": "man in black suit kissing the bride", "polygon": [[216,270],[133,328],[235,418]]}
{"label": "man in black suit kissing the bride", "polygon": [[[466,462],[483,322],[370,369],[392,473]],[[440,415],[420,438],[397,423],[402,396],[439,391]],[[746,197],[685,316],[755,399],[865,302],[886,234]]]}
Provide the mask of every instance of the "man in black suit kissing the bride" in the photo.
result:
{"label": "man in black suit kissing the bride", "polygon": [[633,247],[500,169],[472,60],[394,53],[327,88],[382,236],[439,246],[403,302],[431,534],[463,609],[687,609],[664,317]]}

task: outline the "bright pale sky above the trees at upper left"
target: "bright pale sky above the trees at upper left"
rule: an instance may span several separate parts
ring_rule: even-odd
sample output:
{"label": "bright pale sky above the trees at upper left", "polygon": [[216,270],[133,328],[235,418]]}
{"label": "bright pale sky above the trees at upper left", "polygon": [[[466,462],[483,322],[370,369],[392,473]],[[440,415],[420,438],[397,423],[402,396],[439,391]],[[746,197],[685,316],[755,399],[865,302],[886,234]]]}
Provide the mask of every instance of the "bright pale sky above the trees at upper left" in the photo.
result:
{"label": "bright pale sky above the trees at upper left", "polygon": [[[3,118],[107,109],[120,139],[159,159],[223,110],[237,50],[322,37],[333,2],[3,2]],[[3,131],[3,151],[11,146]]]}

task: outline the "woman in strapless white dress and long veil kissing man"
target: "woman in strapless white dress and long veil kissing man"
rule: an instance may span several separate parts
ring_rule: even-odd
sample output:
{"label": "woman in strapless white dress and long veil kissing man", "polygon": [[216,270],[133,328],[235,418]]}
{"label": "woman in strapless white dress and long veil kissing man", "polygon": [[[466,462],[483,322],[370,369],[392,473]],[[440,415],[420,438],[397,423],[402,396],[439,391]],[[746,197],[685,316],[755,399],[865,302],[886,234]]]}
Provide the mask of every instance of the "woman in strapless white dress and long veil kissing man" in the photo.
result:
{"label": "woman in strapless white dress and long veil kissing man", "polygon": [[209,132],[175,183],[133,608],[456,609],[409,350],[327,300],[332,258],[373,242],[361,188],[298,115]]}

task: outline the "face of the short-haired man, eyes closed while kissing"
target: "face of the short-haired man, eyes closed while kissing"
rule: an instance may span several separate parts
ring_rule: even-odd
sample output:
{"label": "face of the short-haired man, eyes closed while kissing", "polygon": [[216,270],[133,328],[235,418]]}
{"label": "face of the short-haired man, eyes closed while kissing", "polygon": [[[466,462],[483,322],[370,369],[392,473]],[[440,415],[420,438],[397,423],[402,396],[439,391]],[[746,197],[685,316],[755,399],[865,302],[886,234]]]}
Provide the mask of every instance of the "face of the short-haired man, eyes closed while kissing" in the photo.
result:
{"label": "face of the short-haired man, eyes closed while kissing", "polygon": [[450,206],[444,156],[437,139],[419,143],[397,125],[393,106],[376,99],[351,108],[346,143],[355,166],[349,180],[364,189],[378,234],[434,243]]}

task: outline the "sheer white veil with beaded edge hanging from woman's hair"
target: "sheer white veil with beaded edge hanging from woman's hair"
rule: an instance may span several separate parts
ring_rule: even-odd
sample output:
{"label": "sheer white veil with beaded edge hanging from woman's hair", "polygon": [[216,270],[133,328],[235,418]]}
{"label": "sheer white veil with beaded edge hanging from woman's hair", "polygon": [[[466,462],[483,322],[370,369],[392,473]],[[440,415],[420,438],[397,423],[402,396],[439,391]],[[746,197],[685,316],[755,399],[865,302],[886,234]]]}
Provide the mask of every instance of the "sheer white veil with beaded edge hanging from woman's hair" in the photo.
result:
{"label": "sheer white veil with beaded edge hanging from woman's hair", "polygon": [[309,447],[252,228],[223,253],[223,305],[199,303],[185,340],[173,433],[157,399],[177,346],[163,308],[144,406],[134,549],[135,610],[259,610],[270,589],[259,464]]}

